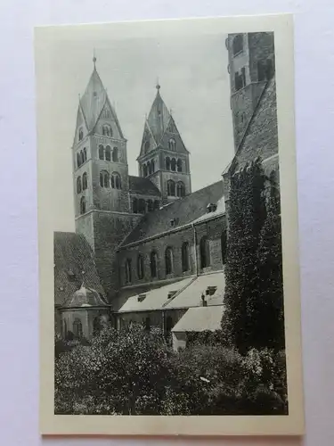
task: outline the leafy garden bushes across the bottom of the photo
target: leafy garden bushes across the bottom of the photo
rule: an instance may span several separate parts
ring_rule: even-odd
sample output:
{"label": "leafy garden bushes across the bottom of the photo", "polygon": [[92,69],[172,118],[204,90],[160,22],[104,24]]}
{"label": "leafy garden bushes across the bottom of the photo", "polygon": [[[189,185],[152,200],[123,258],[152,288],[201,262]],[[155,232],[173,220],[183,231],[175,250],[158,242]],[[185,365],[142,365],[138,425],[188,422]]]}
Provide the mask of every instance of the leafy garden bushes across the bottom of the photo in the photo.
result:
{"label": "leafy garden bushes across the bottom of the photo", "polygon": [[106,329],[91,345],[77,345],[56,358],[55,413],[285,413],[284,361],[283,352],[252,350],[241,356],[219,343],[199,341],[175,353],[157,329]]}

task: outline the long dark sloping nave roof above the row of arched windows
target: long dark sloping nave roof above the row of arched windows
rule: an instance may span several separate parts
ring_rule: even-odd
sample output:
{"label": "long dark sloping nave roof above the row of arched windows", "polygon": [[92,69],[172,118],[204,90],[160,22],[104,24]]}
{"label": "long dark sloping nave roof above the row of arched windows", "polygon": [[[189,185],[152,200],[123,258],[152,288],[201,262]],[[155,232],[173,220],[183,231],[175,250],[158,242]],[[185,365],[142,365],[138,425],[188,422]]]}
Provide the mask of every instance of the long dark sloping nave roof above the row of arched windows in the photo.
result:
{"label": "long dark sloping nave roof above the row of arched windows", "polygon": [[[175,219],[177,224],[175,227],[180,227],[190,224],[196,219],[207,214],[208,203],[217,203],[224,195],[223,181],[204,187],[192,194],[186,195],[183,198],[175,200],[154,212],[148,212],[143,216],[139,224],[134,227],[132,232],[127,235],[126,239],[120,246],[131,244],[142,238],[159,235],[169,229],[171,219]],[[212,214],[211,214],[212,215]]]}

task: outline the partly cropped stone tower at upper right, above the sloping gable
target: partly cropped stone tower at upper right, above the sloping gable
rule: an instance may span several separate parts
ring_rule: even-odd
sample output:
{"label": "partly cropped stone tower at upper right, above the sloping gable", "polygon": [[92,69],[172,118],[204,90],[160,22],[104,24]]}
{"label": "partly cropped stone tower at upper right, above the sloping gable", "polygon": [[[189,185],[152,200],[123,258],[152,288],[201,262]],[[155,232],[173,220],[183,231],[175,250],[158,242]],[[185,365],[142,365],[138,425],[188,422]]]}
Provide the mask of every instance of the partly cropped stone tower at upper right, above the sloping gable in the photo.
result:
{"label": "partly cropped stone tower at upper right, above the sloping gable", "polygon": [[274,70],[273,33],[229,34],[226,39],[231,83],[234,146],[237,151]]}

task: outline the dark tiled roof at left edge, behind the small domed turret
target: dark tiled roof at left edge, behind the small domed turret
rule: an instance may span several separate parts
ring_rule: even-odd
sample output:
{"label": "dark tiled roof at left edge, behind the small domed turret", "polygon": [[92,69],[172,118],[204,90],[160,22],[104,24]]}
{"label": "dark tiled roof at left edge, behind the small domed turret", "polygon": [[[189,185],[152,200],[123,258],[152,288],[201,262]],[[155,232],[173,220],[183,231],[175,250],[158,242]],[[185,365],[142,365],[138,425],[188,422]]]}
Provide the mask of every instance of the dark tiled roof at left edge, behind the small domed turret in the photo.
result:
{"label": "dark tiled roof at left edge, behind the small domed turret", "polygon": [[[84,235],[55,232],[54,250],[54,304],[68,301],[83,283],[105,298],[94,264],[94,254]],[[84,271],[84,274],[83,274]]]}

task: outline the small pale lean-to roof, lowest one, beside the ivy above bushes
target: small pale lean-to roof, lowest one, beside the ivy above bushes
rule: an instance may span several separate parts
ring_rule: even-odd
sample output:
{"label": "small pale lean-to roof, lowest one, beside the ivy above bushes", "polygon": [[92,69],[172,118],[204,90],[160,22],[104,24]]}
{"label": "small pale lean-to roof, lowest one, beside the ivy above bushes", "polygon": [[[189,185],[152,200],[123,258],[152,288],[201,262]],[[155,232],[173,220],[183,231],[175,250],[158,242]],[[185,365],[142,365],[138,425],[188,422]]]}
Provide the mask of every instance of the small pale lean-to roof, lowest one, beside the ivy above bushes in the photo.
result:
{"label": "small pale lean-to roof, lowest one, beside the ivy above bushes", "polygon": [[172,328],[172,332],[203,332],[219,330],[223,305],[218,307],[190,308]]}

